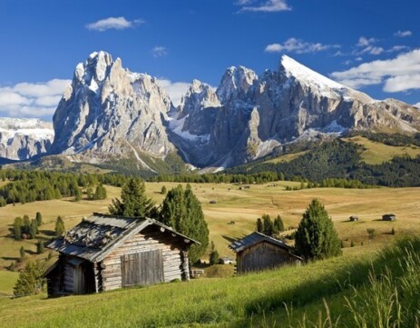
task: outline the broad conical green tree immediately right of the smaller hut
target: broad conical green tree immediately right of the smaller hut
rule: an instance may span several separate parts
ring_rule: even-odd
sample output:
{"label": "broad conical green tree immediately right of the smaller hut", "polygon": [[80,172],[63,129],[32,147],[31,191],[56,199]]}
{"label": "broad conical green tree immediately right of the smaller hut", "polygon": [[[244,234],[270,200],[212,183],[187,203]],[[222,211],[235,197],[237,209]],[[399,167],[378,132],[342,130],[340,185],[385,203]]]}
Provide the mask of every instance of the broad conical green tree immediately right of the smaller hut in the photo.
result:
{"label": "broad conical green tree immediately right of the smaller hut", "polygon": [[317,199],[309,204],[298,225],[295,247],[305,259],[325,259],[342,253],[340,240],[327,211]]}

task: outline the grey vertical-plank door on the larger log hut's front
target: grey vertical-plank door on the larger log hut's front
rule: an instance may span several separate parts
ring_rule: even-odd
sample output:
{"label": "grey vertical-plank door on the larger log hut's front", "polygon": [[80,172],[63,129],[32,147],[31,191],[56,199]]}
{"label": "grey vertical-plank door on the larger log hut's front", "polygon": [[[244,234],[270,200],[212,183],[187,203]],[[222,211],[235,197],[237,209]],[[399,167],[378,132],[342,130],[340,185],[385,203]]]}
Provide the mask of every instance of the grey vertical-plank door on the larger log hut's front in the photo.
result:
{"label": "grey vertical-plank door on the larger log hut's front", "polygon": [[121,263],[122,287],[136,284],[147,286],[164,281],[161,250],[125,254],[121,257]]}

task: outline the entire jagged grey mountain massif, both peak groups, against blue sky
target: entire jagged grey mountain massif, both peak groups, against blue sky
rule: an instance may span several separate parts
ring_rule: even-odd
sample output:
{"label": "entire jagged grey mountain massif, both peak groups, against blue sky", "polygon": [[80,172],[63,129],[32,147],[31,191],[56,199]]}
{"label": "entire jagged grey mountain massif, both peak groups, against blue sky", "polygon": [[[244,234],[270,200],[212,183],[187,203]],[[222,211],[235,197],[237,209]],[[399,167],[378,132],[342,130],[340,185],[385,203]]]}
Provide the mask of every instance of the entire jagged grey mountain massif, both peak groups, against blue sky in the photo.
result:
{"label": "entire jagged grey mountain massif, both peak groups, against blue sky", "polygon": [[155,78],[99,52],[76,66],[54,114],[54,143],[41,152],[89,163],[132,158],[150,171],[179,154],[187,164],[218,171],[348,130],[416,133],[420,111],[372,99],[287,55],[277,71],[261,75],[230,67],[217,90],[194,80],[174,107]]}

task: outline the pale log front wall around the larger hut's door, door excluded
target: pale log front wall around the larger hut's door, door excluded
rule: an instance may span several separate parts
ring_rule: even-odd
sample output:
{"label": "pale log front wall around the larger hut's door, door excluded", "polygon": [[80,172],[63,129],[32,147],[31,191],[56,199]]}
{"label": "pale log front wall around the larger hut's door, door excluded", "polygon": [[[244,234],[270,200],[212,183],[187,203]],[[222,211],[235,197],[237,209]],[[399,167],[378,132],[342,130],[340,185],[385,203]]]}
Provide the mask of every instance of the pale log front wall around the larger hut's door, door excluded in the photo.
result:
{"label": "pale log front wall around the larger hut's door, door excluded", "polygon": [[151,250],[161,250],[163,260],[163,282],[169,283],[174,279],[182,279],[181,247],[174,245],[175,238],[171,234],[159,232],[136,234],[131,240],[122,244],[114,252],[110,253],[103,262],[102,267],[102,290],[110,291],[122,288],[122,261],[123,255],[140,253]]}

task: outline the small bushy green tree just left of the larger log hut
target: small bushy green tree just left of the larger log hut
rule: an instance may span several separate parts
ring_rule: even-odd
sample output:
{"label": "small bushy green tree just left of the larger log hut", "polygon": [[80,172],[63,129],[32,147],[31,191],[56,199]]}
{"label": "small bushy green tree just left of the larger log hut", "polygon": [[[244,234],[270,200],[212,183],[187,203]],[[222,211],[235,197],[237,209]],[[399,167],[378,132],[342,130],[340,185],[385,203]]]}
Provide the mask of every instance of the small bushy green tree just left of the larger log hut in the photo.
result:
{"label": "small bushy green tree just left of the larger log hut", "polygon": [[44,278],[42,278],[43,267],[38,262],[28,262],[24,270],[19,273],[14,287],[16,297],[41,293],[44,289]]}

